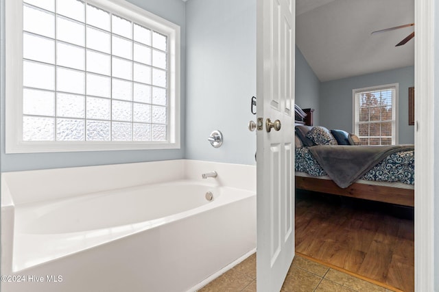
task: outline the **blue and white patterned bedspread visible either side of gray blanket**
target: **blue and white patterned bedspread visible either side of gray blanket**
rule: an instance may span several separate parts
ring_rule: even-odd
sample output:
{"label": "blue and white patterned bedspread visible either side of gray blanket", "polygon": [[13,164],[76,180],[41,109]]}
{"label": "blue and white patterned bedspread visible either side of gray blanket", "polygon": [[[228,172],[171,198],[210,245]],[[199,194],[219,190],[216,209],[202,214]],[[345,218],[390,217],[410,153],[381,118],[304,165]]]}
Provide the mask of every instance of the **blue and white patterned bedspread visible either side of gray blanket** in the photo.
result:
{"label": "blue and white patterned bedspread visible either side of gray blanket", "polygon": [[[311,176],[327,175],[309,152],[309,147],[296,148],[296,172],[306,172]],[[396,152],[385,157],[361,179],[414,185],[414,150]]]}

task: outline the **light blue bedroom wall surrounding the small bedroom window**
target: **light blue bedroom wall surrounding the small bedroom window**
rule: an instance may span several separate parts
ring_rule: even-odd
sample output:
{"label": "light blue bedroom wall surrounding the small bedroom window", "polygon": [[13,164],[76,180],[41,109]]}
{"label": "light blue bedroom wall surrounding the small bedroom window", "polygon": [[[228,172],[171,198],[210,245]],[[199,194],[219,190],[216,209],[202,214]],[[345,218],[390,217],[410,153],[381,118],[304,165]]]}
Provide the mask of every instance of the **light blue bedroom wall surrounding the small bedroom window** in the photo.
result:
{"label": "light blue bedroom wall surrounding the small bedroom window", "polygon": [[408,88],[414,86],[414,66],[320,83],[320,123],[328,129],[353,131],[352,90],[390,83],[399,83],[399,144],[414,144],[414,127],[408,125]]}

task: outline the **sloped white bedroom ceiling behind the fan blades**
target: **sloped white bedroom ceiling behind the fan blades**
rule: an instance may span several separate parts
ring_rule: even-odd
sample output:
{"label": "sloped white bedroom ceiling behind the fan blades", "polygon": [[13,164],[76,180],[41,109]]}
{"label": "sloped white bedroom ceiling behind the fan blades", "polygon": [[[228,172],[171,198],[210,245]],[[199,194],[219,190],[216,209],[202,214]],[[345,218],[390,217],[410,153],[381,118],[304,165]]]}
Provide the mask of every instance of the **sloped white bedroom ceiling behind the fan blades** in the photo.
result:
{"label": "sloped white bedroom ceiling behind the fan blades", "polygon": [[[414,65],[414,0],[296,0],[296,44],[320,81]],[[416,38],[416,36],[415,36]]]}

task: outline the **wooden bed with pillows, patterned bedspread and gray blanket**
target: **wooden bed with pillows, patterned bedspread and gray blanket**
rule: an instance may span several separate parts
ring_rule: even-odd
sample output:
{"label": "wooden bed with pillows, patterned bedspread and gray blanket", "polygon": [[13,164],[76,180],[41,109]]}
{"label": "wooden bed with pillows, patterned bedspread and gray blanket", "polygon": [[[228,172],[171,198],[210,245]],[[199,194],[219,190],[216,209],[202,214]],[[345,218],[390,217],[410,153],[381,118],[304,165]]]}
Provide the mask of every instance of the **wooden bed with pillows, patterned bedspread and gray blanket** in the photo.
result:
{"label": "wooden bed with pillows, patterned bedspread and gray blanket", "polygon": [[[414,207],[414,147],[412,145],[357,146],[355,144],[359,144],[359,140],[356,140],[358,137],[355,135],[342,130],[314,127],[313,110],[299,109],[296,107],[296,189]],[[311,130],[314,133],[309,133]],[[328,133],[333,138],[327,145],[319,144],[322,131],[326,131],[322,135],[327,139],[330,139],[327,137]],[[340,137],[336,135],[336,131],[344,133]],[[307,135],[311,139],[307,139]],[[312,140],[313,135],[317,137],[317,145]],[[341,141],[342,145],[339,145],[339,138],[340,140],[347,139],[349,144]],[[354,174],[360,174],[358,177],[353,176],[347,181],[340,182],[333,170],[326,169],[331,168],[331,165],[340,164],[331,160],[333,159],[331,155],[335,155],[333,152],[339,152],[337,155],[344,157],[345,152],[367,152],[371,148],[375,151],[372,155],[375,161],[372,159],[368,163],[373,163],[373,165],[363,165],[366,159],[363,161],[361,154],[358,161],[344,159],[351,161],[347,167],[353,167]],[[329,161],[325,161],[322,157],[329,157]],[[335,172],[337,168],[343,168],[343,165],[335,167]],[[355,178],[354,181],[353,178]]]}

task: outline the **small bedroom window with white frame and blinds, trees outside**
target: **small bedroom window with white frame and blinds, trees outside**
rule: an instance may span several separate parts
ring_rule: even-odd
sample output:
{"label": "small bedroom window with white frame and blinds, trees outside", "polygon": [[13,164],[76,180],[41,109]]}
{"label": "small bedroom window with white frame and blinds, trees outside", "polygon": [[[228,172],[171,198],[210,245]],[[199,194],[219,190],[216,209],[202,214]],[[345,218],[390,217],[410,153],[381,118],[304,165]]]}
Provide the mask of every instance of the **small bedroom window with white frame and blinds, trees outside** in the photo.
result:
{"label": "small bedroom window with white frame and blinds, trees outside", "polygon": [[394,145],[398,83],[353,90],[354,133],[361,145]]}

